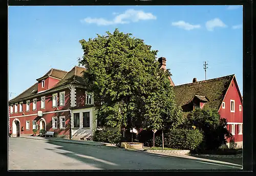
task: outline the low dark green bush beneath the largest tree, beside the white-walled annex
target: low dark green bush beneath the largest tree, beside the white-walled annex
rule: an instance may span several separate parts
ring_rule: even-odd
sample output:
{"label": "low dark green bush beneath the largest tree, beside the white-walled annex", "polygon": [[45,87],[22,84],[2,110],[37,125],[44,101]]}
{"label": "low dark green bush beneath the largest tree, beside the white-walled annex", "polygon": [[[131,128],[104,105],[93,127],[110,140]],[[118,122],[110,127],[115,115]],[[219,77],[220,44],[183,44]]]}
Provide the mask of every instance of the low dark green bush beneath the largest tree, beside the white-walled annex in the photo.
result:
{"label": "low dark green bush beneath the largest tree, beside the white-walled annex", "polygon": [[111,143],[119,146],[121,141],[121,133],[119,131],[115,132],[104,128],[101,130],[97,129],[94,134],[94,141]]}

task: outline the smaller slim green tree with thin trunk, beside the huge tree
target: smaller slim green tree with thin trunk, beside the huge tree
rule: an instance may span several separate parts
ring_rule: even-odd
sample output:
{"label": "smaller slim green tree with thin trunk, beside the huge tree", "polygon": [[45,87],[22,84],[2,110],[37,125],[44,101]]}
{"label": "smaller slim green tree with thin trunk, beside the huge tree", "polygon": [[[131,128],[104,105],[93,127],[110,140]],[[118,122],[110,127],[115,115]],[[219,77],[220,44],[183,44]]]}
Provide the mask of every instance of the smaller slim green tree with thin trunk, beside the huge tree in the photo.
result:
{"label": "smaller slim green tree with thin trunk, beside the huge tree", "polygon": [[164,148],[164,130],[175,129],[184,122],[181,107],[174,101],[173,86],[168,77],[169,70],[159,69],[155,86],[148,91],[145,100],[144,127],[162,131],[162,147]]}

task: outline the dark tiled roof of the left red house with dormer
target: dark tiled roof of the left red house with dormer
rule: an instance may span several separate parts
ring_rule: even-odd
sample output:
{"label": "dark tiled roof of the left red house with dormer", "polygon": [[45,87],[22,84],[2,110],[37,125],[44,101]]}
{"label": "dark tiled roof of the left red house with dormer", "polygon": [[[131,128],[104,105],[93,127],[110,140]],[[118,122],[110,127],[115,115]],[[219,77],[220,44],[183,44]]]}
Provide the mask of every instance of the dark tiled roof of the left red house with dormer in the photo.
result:
{"label": "dark tiled roof of the left red house with dormer", "polygon": [[[84,86],[84,81],[82,78],[82,71],[84,71],[84,70],[86,70],[86,69],[82,68],[82,67],[78,67],[78,66],[73,67],[69,72],[66,71],[65,74],[63,74],[64,71],[62,71],[62,70],[57,70],[57,69],[49,70],[47,72],[47,74],[45,74],[45,76],[51,75],[51,76],[54,76],[55,78],[57,78],[56,76],[58,74],[58,77],[62,80],[60,80],[56,85],[54,85],[52,88],[45,91],[44,93],[47,93],[48,91],[57,89],[61,86],[65,86],[68,84],[76,84],[76,85]],[[62,73],[60,73],[60,72],[62,72]],[[62,74],[63,74],[63,76],[61,76]],[[41,77],[41,78],[43,78],[43,77]],[[14,97],[13,99],[11,99],[9,101],[9,103],[16,103],[16,102],[19,102],[20,99],[37,94],[37,85],[38,85],[38,83],[35,83],[33,86],[31,86],[30,88],[25,90],[23,93],[19,94],[18,96]],[[33,91],[33,90],[35,90],[35,91]]]}

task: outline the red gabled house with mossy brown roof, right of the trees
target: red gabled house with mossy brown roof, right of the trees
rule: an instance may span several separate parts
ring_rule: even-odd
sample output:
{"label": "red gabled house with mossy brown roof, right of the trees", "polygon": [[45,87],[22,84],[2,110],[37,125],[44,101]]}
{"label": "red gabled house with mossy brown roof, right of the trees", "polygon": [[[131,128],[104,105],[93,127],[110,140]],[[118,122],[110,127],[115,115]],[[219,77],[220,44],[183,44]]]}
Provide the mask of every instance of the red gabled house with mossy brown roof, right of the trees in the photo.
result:
{"label": "red gabled house with mossy brown roof, right of the trees", "polygon": [[199,82],[194,78],[192,83],[174,86],[174,92],[185,113],[203,107],[218,110],[233,134],[234,141],[227,139],[227,146],[243,146],[243,99],[234,74]]}

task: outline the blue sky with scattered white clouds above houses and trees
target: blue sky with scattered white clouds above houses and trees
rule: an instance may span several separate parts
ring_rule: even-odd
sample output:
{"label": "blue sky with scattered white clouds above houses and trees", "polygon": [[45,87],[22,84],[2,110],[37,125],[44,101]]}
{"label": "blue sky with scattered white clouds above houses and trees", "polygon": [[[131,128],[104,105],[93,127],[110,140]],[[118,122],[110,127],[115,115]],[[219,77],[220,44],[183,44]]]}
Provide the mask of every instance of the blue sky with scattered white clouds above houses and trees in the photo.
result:
{"label": "blue sky with scattered white clouds above houses and trees", "polygon": [[[236,74],[243,91],[242,6],[11,6],[8,9],[9,98],[52,67],[69,71],[80,39],[132,33],[167,59],[175,85]],[[242,93],[243,94],[243,93]]]}

